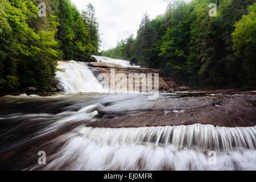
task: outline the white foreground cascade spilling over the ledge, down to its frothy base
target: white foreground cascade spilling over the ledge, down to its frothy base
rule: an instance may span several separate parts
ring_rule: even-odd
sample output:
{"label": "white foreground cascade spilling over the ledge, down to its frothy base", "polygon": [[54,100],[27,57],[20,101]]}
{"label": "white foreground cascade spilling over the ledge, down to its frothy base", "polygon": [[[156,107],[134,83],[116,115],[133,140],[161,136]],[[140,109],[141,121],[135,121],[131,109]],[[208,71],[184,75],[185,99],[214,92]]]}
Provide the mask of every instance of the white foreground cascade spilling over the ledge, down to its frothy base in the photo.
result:
{"label": "white foreground cascade spilling over the ledge, down to its frothy base", "polygon": [[[78,127],[44,170],[255,170],[256,127]],[[209,163],[209,151],[217,154]],[[69,166],[65,165],[69,164]],[[37,168],[30,168],[37,169]]]}

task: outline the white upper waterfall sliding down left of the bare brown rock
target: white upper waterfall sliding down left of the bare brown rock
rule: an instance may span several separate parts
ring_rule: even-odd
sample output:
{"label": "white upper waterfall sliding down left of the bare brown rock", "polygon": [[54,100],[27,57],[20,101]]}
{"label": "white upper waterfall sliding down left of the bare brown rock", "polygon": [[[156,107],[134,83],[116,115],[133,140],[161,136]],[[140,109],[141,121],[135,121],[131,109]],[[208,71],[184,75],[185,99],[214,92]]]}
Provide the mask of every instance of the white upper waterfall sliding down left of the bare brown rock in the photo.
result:
{"label": "white upper waterfall sliding down left of the bare brown rock", "polygon": [[84,63],[76,61],[58,61],[58,63],[58,68],[64,69],[64,72],[56,72],[55,78],[64,87],[64,92],[106,92]]}

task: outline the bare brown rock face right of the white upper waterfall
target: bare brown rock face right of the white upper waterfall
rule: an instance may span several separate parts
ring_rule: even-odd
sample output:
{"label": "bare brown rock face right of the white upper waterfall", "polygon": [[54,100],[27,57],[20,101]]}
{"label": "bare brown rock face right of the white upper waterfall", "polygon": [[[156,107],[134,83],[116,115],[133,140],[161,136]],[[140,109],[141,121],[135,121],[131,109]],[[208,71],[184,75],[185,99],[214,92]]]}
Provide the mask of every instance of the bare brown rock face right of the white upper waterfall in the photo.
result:
{"label": "bare brown rock face right of the white upper waterfall", "polygon": [[[174,92],[174,88],[176,88],[177,84],[172,78],[166,78],[162,77],[162,73],[159,71],[159,69],[150,69],[150,68],[137,68],[137,67],[122,67],[117,64],[112,63],[97,63],[97,62],[90,62],[87,64],[88,67],[92,70],[94,73],[94,76],[98,76],[101,73],[105,73],[108,75],[110,82],[110,71],[111,69],[114,69],[115,75],[122,73],[129,77],[129,74],[152,74],[152,85],[154,85],[154,74],[159,74],[159,92]],[[101,81],[101,80],[100,80]],[[143,82],[142,79],[140,79],[141,82]],[[146,84],[146,83],[144,83]],[[129,85],[127,84],[127,87]],[[127,88],[128,90],[128,88]]]}

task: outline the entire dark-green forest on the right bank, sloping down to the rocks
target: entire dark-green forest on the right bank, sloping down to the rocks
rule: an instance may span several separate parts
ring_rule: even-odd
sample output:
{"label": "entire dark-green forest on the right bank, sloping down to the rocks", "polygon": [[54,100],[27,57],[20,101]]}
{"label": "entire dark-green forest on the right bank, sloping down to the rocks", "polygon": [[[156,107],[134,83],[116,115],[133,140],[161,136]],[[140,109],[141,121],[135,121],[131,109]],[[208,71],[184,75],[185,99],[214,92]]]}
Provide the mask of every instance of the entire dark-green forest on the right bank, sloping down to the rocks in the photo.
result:
{"label": "entire dark-green forest on the right bank, sloping down to the rocks", "polygon": [[171,1],[155,19],[143,15],[135,38],[100,54],[160,69],[193,88],[255,86],[255,0]]}

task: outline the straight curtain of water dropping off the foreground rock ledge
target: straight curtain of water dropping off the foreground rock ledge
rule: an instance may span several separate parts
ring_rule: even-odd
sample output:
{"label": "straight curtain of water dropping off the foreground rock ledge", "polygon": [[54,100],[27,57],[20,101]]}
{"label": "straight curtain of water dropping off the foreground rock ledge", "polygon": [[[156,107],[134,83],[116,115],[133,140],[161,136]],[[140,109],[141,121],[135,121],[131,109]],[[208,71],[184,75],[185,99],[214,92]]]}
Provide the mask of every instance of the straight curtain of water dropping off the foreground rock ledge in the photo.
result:
{"label": "straight curtain of water dropping off the foreground rock ledge", "polygon": [[154,147],[174,146],[202,151],[230,151],[256,148],[256,126],[219,127],[213,125],[188,125],[164,127],[139,127],[104,129],[84,127],[79,131],[84,138],[110,146],[143,144]]}

